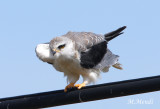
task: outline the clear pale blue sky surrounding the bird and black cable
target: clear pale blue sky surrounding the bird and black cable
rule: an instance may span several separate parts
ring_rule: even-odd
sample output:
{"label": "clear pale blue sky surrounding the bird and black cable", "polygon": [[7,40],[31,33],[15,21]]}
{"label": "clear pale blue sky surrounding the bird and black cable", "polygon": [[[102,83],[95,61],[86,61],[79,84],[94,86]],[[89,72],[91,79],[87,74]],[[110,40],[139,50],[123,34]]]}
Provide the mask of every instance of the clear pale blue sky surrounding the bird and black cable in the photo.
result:
{"label": "clear pale blue sky surrounding the bird and black cable", "polygon": [[[159,0],[1,0],[0,98],[63,89],[66,78],[41,62],[35,47],[68,31],[105,34],[127,26],[125,33],[108,45],[120,56],[124,70],[111,68],[109,73],[102,73],[97,84],[159,75],[159,4]],[[153,104],[127,104],[130,99],[152,99]],[[56,109],[159,106],[159,92],[152,92]]]}

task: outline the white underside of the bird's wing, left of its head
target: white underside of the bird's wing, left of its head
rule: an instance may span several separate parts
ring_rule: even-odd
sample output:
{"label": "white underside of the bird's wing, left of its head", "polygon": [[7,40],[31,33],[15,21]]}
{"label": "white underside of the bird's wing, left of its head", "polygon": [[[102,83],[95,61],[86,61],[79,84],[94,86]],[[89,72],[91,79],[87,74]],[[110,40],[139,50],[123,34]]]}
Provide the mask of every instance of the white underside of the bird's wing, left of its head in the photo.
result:
{"label": "white underside of the bird's wing, left of its head", "polygon": [[43,62],[47,62],[49,64],[53,64],[54,58],[51,53],[49,43],[38,44],[35,49],[37,57]]}

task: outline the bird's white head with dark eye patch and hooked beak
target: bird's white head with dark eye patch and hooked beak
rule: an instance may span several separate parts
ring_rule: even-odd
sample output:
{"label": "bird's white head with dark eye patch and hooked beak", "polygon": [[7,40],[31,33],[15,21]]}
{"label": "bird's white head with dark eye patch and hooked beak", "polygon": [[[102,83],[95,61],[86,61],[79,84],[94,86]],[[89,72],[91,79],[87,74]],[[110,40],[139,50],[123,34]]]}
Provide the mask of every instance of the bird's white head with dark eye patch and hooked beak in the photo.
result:
{"label": "bird's white head with dark eye patch and hooked beak", "polygon": [[59,56],[74,56],[75,44],[73,41],[66,37],[56,37],[50,41],[50,49],[52,54],[56,57]]}

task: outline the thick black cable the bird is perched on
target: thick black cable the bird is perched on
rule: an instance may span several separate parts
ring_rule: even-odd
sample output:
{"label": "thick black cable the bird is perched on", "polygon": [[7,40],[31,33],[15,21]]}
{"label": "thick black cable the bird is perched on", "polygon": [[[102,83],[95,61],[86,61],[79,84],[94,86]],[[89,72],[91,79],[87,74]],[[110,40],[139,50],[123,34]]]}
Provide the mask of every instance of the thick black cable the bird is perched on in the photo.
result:
{"label": "thick black cable the bird is perched on", "polygon": [[160,76],[0,99],[0,109],[38,109],[160,90]]}

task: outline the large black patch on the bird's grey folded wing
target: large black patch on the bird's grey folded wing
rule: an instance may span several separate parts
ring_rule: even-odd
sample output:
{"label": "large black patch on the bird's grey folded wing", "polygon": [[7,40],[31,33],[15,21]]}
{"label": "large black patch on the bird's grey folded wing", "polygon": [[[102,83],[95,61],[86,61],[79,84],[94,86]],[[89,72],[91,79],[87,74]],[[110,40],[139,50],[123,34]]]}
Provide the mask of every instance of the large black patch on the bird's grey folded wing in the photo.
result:
{"label": "large black patch on the bird's grey folded wing", "polygon": [[80,65],[87,69],[95,67],[104,57],[106,49],[107,42],[104,41],[92,46],[87,52],[81,52]]}

